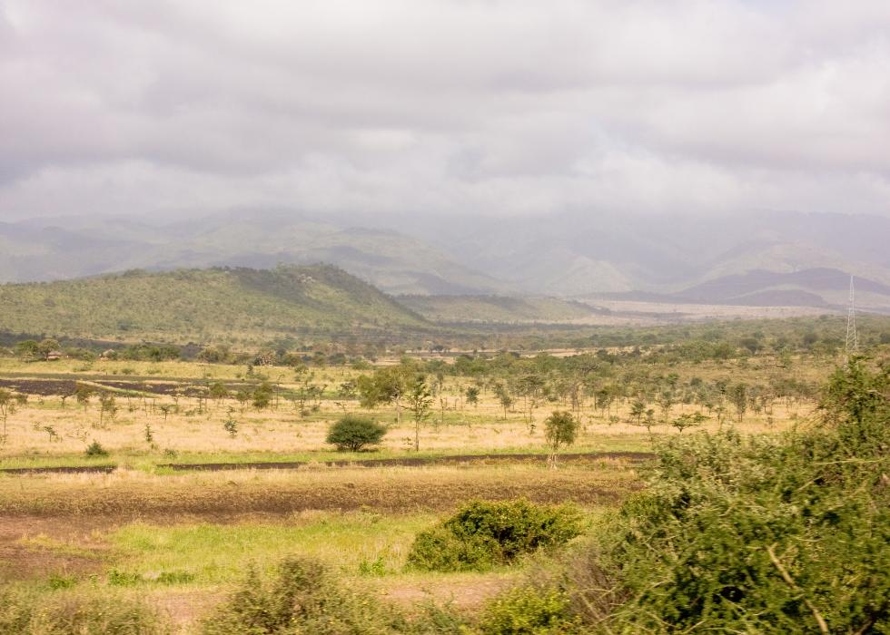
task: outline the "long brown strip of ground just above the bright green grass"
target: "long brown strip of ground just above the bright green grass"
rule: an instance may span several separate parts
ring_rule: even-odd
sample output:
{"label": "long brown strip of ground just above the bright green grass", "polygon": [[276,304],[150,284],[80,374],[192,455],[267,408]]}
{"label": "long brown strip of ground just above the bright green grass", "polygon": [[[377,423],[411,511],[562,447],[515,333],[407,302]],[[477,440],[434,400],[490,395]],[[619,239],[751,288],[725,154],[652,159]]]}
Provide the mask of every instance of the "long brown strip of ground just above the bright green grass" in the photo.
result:
{"label": "long brown strip of ground just above the bright green grass", "polygon": [[101,482],[75,480],[64,484],[51,479],[27,490],[6,489],[0,495],[0,515],[105,516],[119,522],[141,518],[163,522],[176,514],[213,517],[233,513],[287,515],[307,510],[446,510],[471,498],[506,500],[521,496],[537,503],[598,505],[615,503],[638,487],[628,471],[604,474],[576,468],[521,466],[484,471],[380,468],[267,474],[271,476],[122,474],[92,477]]}

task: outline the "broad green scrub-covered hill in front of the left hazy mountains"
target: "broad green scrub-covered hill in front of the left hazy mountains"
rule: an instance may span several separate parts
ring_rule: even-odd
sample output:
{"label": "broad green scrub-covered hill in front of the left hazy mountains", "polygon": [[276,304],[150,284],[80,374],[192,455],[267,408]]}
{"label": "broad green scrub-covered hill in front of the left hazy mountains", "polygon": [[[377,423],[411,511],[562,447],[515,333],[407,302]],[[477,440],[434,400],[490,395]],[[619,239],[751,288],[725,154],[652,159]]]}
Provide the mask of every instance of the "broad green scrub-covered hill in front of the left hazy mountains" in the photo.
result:
{"label": "broad green scrub-covered hill in front of the left hazy mountains", "polygon": [[0,285],[0,331],[10,333],[246,344],[432,329],[377,288],[325,265],[133,270]]}

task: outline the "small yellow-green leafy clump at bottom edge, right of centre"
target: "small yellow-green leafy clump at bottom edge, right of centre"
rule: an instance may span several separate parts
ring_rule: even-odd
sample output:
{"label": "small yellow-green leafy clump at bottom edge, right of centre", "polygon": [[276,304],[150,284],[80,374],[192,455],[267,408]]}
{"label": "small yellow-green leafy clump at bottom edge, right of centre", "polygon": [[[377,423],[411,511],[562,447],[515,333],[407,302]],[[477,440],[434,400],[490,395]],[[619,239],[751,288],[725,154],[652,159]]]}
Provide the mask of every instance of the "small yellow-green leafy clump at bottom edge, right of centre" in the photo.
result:
{"label": "small yellow-green leafy clump at bottom edge, right of centre", "polygon": [[480,617],[481,635],[580,633],[569,594],[554,588],[519,586],[491,601]]}

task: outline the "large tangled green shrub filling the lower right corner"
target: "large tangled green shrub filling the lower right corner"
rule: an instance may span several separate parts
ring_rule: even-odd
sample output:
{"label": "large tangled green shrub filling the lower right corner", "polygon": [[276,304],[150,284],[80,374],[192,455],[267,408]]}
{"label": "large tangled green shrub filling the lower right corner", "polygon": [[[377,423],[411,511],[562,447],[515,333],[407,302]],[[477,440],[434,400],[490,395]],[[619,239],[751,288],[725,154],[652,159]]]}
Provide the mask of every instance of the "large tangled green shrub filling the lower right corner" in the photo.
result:
{"label": "large tangled green shrub filling the lower right corner", "polygon": [[888,397],[887,369],[854,358],[806,431],[663,445],[598,537],[598,597],[627,598],[609,630],[890,632]]}

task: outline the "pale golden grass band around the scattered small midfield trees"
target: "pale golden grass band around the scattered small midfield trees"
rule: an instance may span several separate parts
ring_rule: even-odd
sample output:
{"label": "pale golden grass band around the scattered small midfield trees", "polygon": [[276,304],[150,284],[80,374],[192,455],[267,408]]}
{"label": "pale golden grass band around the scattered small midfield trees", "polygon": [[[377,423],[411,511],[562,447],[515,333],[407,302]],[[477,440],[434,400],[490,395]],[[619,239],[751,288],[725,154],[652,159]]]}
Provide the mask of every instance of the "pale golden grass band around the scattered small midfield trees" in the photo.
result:
{"label": "pale golden grass band around the scattered small midfield trees", "polygon": [[[2,362],[3,360],[0,360]],[[117,363],[114,363],[117,364]],[[169,363],[163,367],[167,373],[179,376],[196,376],[204,365]],[[232,373],[233,366],[213,366],[213,372]],[[279,370],[267,372],[276,376]],[[766,362],[737,366],[733,364],[709,364],[694,367],[677,366],[677,374],[695,374],[705,379],[731,376],[734,381],[763,377],[776,372]],[[820,371],[807,369],[799,376],[816,381]],[[317,383],[329,386],[329,394],[355,371],[345,368],[320,371]],[[567,405],[545,403],[539,405],[529,422],[527,414],[519,412],[523,407],[519,399],[507,419],[494,397],[486,391],[478,406],[464,404],[463,390],[469,385],[465,378],[449,378],[442,392],[442,402],[434,402],[433,411],[422,425],[420,449],[434,454],[467,454],[497,452],[544,452],[542,435],[543,420],[554,409]],[[282,386],[293,387],[284,383]],[[29,464],[39,459],[44,463],[52,457],[74,459],[82,455],[86,445],[98,441],[105,449],[117,456],[119,462],[139,463],[143,457],[149,463],[165,463],[179,460],[173,454],[200,455],[200,460],[230,460],[239,454],[301,454],[303,459],[311,454],[322,454],[320,459],[331,458],[334,448],[325,443],[328,426],[346,411],[361,410],[358,402],[328,398],[321,402],[321,409],[302,416],[295,407],[281,399],[277,408],[257,411],[250,405],[242,406],[233,399],[222,403],[211,401],[203,410],[194,398],[170,396],[138,396],[127,398],[118,395],[117,414],[109,420],[99,410],[94,398],[88,407],[81,407],[68,399],[66,407],[56,396],[31,396],[28,405],[10,415],[7,422],[6,443],[0,447],[0,465]],[[168,415],[159,407],[164,405]],[[777,400],[772,415],[755,415],[748,412],[739,428],[747,432],[774,431],[794,424],[812,411],[814,403],[795,403],[790,408],[783,400]],[[652,406],[656,407],[656,406]],[[671,415],[696,411],[693,405],[677,405]],[[366,412],[382,423],[390,425],[390,431],[381,445],[381,454],[410,455],[414,428],[410,413],[402,410],[397,421],[392,407],[381,407]],[[608,415],[618,417],[618,423],[610,423]],[[727,413],[727,417],[732,415]],[[238,432],[233,437],[223,428],[223,421],[232,418]],[[614,405],[604,418],[594,410],[591,400],[581,409],[584,424],[575,450],[586,451],[643,451],[648,448],[648,433],[644,428],[629,425],[629,401]],[[103,425],[100,425],[103,420]],[[712,419],[705,426],[714,429]],[[658,425],[658,434],[677,434],[666,425]],[[146,434],[150,433],[151,440]],[[164,451],[167,451],[164,454]],[[214,459],[215,457],[215,459]]]}

